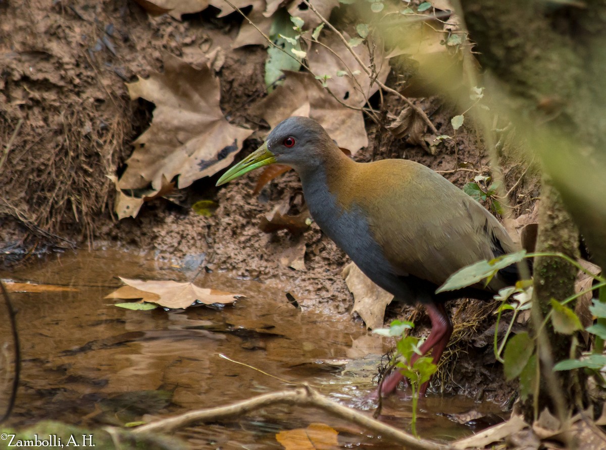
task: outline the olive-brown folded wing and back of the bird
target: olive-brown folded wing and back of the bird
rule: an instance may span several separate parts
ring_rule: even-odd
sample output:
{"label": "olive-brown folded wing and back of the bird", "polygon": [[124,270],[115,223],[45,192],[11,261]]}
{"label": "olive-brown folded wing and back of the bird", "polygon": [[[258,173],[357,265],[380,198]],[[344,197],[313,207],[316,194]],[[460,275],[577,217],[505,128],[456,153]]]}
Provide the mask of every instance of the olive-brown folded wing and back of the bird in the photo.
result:
{"label": "olive-brown folded wing and back of the bird", "polygon": [[[347,184],[348,193],[358,193],[356,203],[368,211],[375,239],[399,274],[441,285],[460,268],[493,258],[493,239],[506,252],[514,251],[494,216],[421,164],[360,164]],[[347,197],[344,202],[353,201]]]}

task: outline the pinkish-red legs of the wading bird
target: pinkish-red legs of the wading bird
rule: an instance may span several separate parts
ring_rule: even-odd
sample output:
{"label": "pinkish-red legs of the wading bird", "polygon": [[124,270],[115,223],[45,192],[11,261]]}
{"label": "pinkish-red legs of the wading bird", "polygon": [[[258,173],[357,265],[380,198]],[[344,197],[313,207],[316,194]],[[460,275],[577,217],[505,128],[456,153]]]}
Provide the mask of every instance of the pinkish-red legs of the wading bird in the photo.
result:
{"label": "pinkish-red legs of the wading bird", "polygon": [[[450,335],[453,333],[453,325],[450,323],[450,319],[448,319],[443,304],[435,305],[429,303],[425,305],[425,309],[427,309],[427,314],[431,320],[431,332],[419,350],[425,356],[425,354],[433,349],[431,353],[432,360],[434,364],[437,364],[450,340]],[[414,363],[419,357],[417,354],[413,355],[412,362]],[[399,371],[391,372],[390,376],[383,381],[381,393],[385,395],[391,394],[403,379],[404,376]],[[421,389],[419,389],[419,394],[425,395],[428,386],[429,382],[423,383]]]}

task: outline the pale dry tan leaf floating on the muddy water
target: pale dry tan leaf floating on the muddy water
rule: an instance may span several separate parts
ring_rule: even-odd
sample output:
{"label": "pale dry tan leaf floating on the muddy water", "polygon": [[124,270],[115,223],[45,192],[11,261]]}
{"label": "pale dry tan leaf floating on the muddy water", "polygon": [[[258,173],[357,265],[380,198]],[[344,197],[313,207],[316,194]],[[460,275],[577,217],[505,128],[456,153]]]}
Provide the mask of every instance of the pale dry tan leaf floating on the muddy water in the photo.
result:
{"label": "pale dry tan leaf floating on the muddy water", "polygon": [[[140,299],[144,298],[146,302],[157,303],[165,308],[185,309],[193,303],[233,303],[235,297],[242,297],[241,294],[232,294],[222,291],[215,291],[208,288],[200,288],[193,283],[178,283],[173,280],[130,280],[119,277],[122,282],[138,291],[144,291],[145,297],[139,296],[137,291],[132,289],[123,289],[125,286],[108,294],[107,298],[121,299]],[[152,295],[150,295],[150,293]],[[124,295],[125,297],[122,297]]]}

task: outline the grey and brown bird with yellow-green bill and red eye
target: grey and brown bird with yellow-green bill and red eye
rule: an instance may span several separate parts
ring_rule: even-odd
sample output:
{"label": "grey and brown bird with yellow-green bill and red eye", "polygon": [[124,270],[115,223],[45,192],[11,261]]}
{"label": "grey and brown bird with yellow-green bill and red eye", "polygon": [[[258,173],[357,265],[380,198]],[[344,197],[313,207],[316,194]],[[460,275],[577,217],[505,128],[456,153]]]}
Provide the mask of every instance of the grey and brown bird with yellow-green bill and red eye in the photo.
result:
{"label": "grey and brown bird with yellow-green bill and red eye", "polygon": [[[276,125],[261,147],[216,185],[273,163],[299,174],[311,217],[368,278],[397,300],[425,306],[431,330],[419,351],[431,352],[433,363],[453,331],[445,302],[488,300],[519,279],[512,265],[487,285],[436,294],[461,268],[518,249],[496,217],[425,165],[408,159],[356,162],[318,122],[294,116]],[[402,380],[392,372],[379,385],[379,395],[395,391]],[[425,395],[427,387],[428,382],[419,393]]]}

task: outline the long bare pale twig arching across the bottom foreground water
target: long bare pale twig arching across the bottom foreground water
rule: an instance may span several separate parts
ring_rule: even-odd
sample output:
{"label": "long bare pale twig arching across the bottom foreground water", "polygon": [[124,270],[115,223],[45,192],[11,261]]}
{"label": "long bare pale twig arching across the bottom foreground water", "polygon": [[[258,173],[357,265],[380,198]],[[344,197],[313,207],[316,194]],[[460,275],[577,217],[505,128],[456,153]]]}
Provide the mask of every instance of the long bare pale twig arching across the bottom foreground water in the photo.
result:
{"label": "long bare pale twig arching across the bottom foreground water", "polygon": [[418,439],[411,434],[372,419],[371,417],[368,417],[367,414],[356,411],[356,409],[339,405],[339,403],[327,399],[324,395],[318,394],[318,392],[311,389],[310,386],[258,395],[252,399],[242,400],[241,402],[236,402],[228,406],[218,406],[216,408],[185,412],[185,414],[169,417],[168,419],[161,419],[140,426],[139,428],[134,429],[133,432],[171,432],[177,428],[189,426],[195,422],[216,422],[230,417],[238,417],[247,412],[279,403],[297,406],[312,406],[322,409],[335,417],[341,417],[342,419],[348,420],[348,422],[353,422],[365,429],[370,429],[382,437],[393,439],[400,445],[406,446],[406,448],[419,450],[445,450],[448,448],[448,446],[443,443]]}

